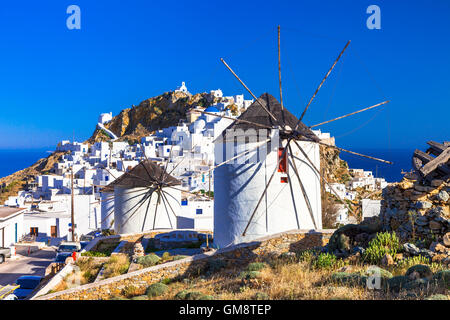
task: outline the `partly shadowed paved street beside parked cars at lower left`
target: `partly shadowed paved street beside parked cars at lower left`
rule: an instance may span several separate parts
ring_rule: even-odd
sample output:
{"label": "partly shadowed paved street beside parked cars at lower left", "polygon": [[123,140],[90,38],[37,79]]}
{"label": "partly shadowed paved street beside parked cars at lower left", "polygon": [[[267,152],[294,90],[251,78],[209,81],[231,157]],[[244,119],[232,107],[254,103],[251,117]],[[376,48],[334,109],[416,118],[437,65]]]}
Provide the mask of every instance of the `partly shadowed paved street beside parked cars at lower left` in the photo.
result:
{"label": "partly shadowed paved street beside parked cars at lower left", "polygon": [[52,263],[55,255],[53,248],[45,248],[29,256],[20,256],[17,260],[7,259],[0,264],[0,285],[12,284],[23,275],[43,277],[45,269]]}

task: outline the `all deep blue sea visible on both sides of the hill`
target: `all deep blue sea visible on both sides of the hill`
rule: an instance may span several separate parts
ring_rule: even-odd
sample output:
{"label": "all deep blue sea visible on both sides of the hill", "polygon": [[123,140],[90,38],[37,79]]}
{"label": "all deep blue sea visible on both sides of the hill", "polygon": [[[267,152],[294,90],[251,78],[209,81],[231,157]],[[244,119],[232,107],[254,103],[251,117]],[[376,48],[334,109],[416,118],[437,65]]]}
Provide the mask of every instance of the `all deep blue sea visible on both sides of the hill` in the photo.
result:
{"label": "all deep blue sea visible on both sides of the hill", "polygon": [[[40,158],[49,155],[49,148],[45,149],[28,149],[28,150],[1,150],[0,149],[0,177],[5,177],[18,170],[24,169]],[[377,177],[383,177],[388,182],[400,181],[402,178],[401,171],[411,170],[411,157],[413,149],[354,149],[352,151],[370,155],[373,157],[392,161],[394,164],[389,165],[374,161],[371,159],[361,158],[349,153],[341,152],[341,159],[348,162],[350,168],[371,170]]]}

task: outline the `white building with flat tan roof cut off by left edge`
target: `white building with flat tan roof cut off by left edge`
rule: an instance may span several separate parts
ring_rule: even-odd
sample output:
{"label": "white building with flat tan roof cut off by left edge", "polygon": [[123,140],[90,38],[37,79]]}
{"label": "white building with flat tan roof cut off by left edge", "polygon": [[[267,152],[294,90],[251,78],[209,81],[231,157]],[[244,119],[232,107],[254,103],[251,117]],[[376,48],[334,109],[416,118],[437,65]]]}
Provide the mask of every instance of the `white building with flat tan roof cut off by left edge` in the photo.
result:
{"label": "white building with flat tan roof cut off by left edge", "polygon": [[13,247],[23,236],[24,208],[0,207],[0,247]]}

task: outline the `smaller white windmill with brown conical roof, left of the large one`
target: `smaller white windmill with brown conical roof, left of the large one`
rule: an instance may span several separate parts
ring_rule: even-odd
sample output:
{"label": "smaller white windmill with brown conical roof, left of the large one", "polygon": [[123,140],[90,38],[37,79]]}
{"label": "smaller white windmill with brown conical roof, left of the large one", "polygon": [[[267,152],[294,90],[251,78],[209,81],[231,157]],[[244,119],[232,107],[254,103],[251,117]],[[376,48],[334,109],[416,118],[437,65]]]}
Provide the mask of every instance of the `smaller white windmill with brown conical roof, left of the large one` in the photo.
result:
{"label": "smaller white windmill with brown conical roof, left of the large one", "polygon": [[[145,149],[141,145],[143,155]],[[138,233],[154,229],[175,229],[181,194],[194,193],[178,186],[181,182],[145,156],[138,165],[101,189],[102,226],[112,225],[117,233]],[[104,167],[111,175],[108,168]],[[114,177],[114,176],[113,176]],[[103,210],[102,210],[103,212]]]}

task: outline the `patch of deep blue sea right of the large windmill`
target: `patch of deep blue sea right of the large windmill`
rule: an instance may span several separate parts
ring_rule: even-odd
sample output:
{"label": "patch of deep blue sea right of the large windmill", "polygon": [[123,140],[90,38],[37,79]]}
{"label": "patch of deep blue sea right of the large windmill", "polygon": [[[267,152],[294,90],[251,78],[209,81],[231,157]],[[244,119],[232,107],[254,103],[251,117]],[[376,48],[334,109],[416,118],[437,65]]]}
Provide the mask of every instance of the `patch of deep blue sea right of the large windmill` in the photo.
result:
{"label": "patch of deep blue sea right of the large windmill", "polygon": [[414,149],[351,149],[375,158],[392,161],[393,164],[362,158],[346,152],[341,152],[341,159],[348,162],[352,169],[364,169],[373,172],[373,175],[385,178],[388,182],[400,181],[403,177],[401,171],[410,171],[412,168],[412,155]]}

